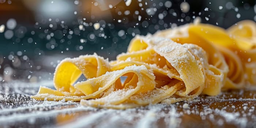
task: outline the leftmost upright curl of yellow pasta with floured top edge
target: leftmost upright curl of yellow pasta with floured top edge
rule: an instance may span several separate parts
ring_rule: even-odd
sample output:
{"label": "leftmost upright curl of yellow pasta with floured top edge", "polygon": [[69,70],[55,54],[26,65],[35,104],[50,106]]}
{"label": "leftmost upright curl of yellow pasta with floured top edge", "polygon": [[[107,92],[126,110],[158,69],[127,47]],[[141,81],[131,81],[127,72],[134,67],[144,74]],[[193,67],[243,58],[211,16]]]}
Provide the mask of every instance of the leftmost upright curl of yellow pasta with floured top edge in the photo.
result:
{"label": "leftmost upright curl of yellow pasta with floured top edge", "polygon": [[109,71],[108,63],[96,54],[65,59],[61,61],[54,73],[54,87],[59,91],[69,92],[70,86],[82,73],[89,79],[105,74],[106,71]]}

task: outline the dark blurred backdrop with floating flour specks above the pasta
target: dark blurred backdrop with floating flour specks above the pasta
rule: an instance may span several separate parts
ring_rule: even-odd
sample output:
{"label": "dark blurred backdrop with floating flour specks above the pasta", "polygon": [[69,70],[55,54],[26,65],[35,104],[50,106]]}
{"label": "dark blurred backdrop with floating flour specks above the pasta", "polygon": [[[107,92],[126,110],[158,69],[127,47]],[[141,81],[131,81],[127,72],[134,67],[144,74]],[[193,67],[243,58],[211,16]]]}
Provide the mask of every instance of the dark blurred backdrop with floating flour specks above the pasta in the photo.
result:
{"label": "dark blurred backdrop with floating flour specks above the pasta", "polygon": [[0,0],[0,82],[52,80],[65,57],[114,60],[136,34],[196,17],[227,28],[255,15],[255,0]]}

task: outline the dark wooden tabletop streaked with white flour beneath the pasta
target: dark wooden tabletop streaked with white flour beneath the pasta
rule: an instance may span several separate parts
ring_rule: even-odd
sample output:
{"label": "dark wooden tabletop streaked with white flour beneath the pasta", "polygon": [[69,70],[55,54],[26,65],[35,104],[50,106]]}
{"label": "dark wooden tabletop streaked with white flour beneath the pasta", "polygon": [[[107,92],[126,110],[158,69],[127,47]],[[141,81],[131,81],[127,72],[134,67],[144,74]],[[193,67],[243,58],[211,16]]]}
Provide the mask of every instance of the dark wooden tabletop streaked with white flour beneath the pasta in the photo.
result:
{"label": "dark wooden tabletop streaked with white flour beneath the pasta", "polygon": [[38,84],[0,84],[0,128],[256,127],[256,89],[224,91],[216,97],[200,96],[172,105],[113,110],[78,102],[35,101],[29,96],[37,93]]}

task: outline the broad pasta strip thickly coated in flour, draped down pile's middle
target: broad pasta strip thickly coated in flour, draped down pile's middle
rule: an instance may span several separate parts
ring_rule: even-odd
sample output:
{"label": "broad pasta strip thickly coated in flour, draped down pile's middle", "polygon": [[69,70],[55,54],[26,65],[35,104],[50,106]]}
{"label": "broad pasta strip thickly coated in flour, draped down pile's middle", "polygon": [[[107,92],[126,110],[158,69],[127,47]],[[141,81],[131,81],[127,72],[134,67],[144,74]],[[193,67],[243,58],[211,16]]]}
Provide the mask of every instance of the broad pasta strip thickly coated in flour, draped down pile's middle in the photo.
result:
{"label": "broad pasta strip thickly coated in flour, draped down pile's middle", "polygon": [[185,94],[189,94],[198,87],[204,87],[205,78],[201,71],[203,67],[197,63],[195,56],[187,48],[164,38],[154,38],[150,43],[154,50],[165,57],[178,71],[186,86]]}

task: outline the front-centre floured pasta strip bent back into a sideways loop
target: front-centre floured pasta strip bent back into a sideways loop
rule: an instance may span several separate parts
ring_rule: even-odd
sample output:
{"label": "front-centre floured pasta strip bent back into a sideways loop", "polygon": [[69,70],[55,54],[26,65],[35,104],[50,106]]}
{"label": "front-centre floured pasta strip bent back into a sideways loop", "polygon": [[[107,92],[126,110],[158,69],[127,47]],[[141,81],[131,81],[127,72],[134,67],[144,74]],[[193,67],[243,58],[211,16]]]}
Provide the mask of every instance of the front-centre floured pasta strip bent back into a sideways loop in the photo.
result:
{"label": "front-centre floured pasta strip bent back into a sideways loop", "polygon": [[[129,83],[127,83],[128,85],[126,87],[124,87],[124,89],[113,91],[106,97],[89,100],[89,101],[82,100],[81,102],[87,102],[86,104],[88,104],[90,106],[98,106],[98,105],[103,105],[103,104],[115,105],[115,104],[119,104],[119,103],[125,101],[126,99],[131,97],[133,94],[143,93],[148,90],[153,90],[155,88],[155,81],[154,81],[155,77],[152,74],[150,74],[150,72],[148,72],[147,68],[143,65],[142,66],[135,66],[135,65],[128,66],[121,70],[109,72],[109,73],[107,73],[107,75],[106,74],[102,75],[102,76],[106,76],[106,79],[101,79],[100,81],[107,82],[107,83],[105,83],[105,85],[111,85],[114,83],[114,81],[116,79],[109,80],[108,78],[110,76],[112,76],[114,78],[119,78],[120,76],[122,76],[128,72],[134,72],[136,77],[133,77],[131,79],[131,81]],[[98,78],[101,78],[101,76]],[[87,80],[86,82],[88,82],[88,81],[89,80]],[[98,80],[96,79],[94,82],[97,83]],[[77,89],[80,89],[82,92],[84,92],[84,91],[86,91],[86,90],[84,90],[84,85],[86,85],[86,84],[76,84],[75,87]],[[104,84],[99,83],[99,85],[104,85]],[[93,84],[92,86],[95,87],[97,85]],[[105,90],[103,87],[101,89]]]}

